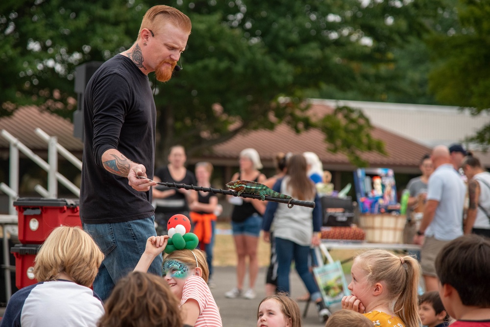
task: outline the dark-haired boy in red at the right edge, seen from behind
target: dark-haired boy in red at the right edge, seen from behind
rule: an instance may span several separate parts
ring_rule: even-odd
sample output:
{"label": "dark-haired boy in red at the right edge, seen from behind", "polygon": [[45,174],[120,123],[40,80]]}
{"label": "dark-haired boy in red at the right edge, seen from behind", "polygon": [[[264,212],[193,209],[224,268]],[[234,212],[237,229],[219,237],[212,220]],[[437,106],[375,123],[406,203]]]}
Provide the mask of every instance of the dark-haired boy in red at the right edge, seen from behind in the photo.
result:
{"label": "dark-haired boy in red at the right edge, seen from behind", "polygon": [[490,327],[490,240],[470,234],[446,244],[436,258],[439,295],[452,327]]}

